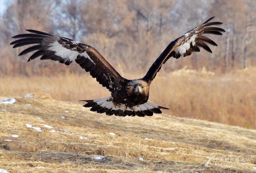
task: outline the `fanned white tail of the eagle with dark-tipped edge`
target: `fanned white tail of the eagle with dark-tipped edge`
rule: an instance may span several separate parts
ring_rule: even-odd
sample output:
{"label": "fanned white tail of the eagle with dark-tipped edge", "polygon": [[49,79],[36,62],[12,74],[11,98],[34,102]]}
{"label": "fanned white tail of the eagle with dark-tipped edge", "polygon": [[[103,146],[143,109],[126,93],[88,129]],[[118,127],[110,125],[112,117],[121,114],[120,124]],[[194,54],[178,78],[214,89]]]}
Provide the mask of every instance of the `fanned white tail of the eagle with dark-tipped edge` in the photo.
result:
{"label": "fanned white tail of the eagle with dark-tipped edge", "polygon": [[162,113],[160,109],[169,109],[166,107],[158,106],[151,101],[147,101],[141,105],[133,107],[127,107],[125,104],[114,104],[113,97],[104,97],[94,100],[79,100],[86,101],[84,107],[91,107],[90,111],[96,111],[98,113],[106,113],[106,115],[116,116],[152,116],[154,113]]}

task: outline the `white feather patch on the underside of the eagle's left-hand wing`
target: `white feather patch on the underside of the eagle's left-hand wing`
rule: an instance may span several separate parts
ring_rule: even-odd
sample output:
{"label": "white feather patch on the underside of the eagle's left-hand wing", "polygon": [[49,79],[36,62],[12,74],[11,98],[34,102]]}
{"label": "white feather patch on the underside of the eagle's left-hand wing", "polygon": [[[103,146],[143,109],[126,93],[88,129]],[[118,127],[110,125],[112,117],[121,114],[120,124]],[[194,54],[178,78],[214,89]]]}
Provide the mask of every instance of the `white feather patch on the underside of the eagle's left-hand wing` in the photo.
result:
{"label": "white feather patch on the underside of the eagle's left-hand wing", "polygon": [[64,48],[58,41],[55,41],[52,44],[50,44],[49,50],[54,51],[56,56],[60,56],[65,60],[74,61],[76,60],[77,56],[80,55],[80,56],[84,56],[85,58],[88,58],[88,60],[90,60],[93,64],[95,64],[86,52],[83,52],[80,54],[75,50]]}

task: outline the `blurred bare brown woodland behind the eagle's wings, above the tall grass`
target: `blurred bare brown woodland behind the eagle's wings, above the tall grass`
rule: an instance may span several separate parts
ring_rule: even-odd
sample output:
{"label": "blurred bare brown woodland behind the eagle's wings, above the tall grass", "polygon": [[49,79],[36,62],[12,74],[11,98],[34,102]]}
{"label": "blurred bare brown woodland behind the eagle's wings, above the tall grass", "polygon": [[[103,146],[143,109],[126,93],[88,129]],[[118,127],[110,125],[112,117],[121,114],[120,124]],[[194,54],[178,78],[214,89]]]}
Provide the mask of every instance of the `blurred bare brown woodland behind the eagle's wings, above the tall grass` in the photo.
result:
{"label": "blurred bare brown woodland behind the eagle's wings, above the tall grass", "polygon": [[[84,73],[50,61],[17,57],[12,36],[26,29],[72,38],[96,48],[120,72],[146,73],[175,38],[211,16],[223,22],[223,36],[213,54],[202,50],[169,60],[164,71],[187,66],[218,73],[256,65],[256,2],[254,0],[12,0],[0,16],[0,74]],[[22,48],[20,48],[22,49]]]}

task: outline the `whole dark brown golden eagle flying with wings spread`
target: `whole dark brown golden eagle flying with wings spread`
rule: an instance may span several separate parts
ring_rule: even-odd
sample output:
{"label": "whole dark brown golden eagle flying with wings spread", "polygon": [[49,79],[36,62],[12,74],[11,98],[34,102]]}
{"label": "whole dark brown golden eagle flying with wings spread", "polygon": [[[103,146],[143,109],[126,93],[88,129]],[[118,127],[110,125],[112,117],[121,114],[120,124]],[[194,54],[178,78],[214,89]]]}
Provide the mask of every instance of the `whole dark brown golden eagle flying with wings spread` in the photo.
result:
{"label": "whole dark brown golden eagle flying with wings spread", "polygon": [[91,107],[91,111],[118,116],[152,116],[153,113],[162,113],[160,109],[168,109],[148,100],[152,80],[170,57],[189,56],[192,52],[200,52],[199,47],[212,53],[206,43],[213,46],[217,44],[204,34],[222,35],[221,32],[225,32],[222,28],[216,27],[222,24],[221,22],[210,22],[213,18],[172,41],[152,64],[147,74],[136,80],[123,78],[96,49],[69,38],[27,30],[29,34],[14,36],[13,38],[18,40],[11,44],[14,44],[13,48],[35,44],[19,54],[22,56],[36,51],[28,61],[39,56],[40,60],[50,59],[66,65],[76,61],[86,72],[90,72],[92,78],[96,78],[111,92],[111,96],[102,99],[82,100],[87,102],[84,107]]}

